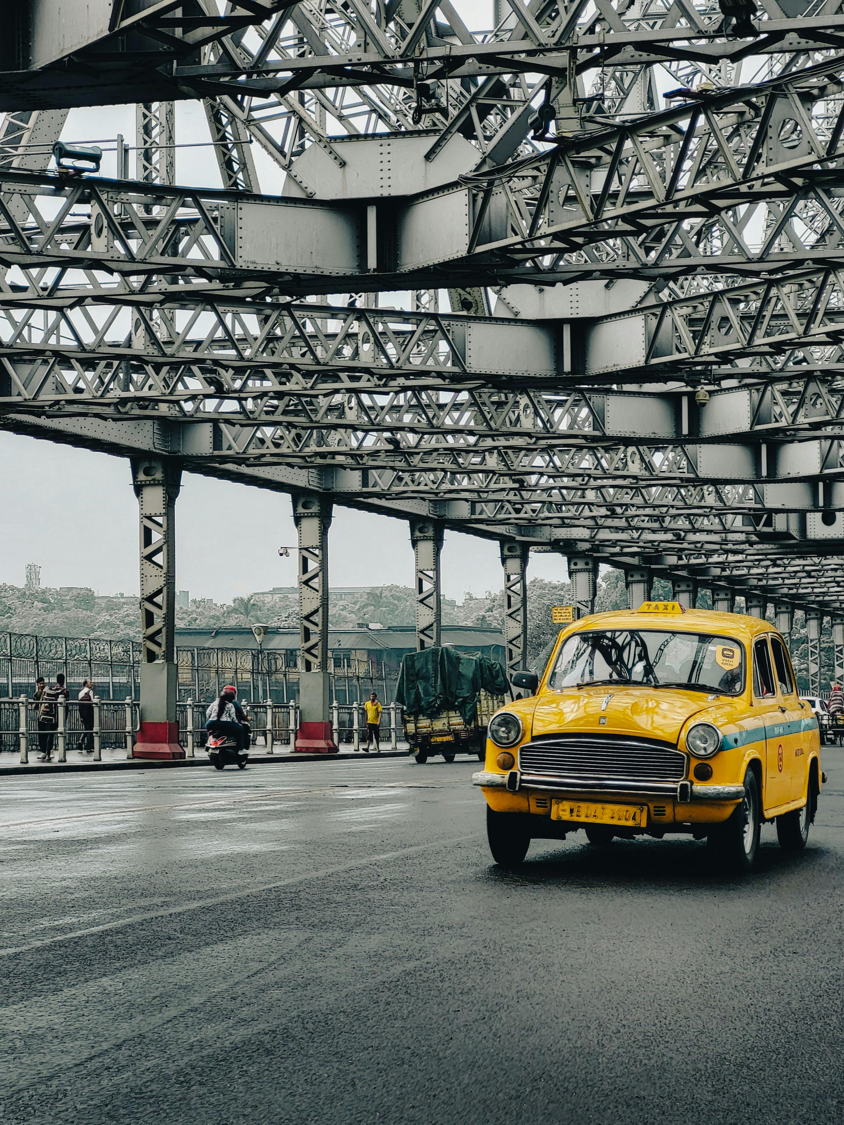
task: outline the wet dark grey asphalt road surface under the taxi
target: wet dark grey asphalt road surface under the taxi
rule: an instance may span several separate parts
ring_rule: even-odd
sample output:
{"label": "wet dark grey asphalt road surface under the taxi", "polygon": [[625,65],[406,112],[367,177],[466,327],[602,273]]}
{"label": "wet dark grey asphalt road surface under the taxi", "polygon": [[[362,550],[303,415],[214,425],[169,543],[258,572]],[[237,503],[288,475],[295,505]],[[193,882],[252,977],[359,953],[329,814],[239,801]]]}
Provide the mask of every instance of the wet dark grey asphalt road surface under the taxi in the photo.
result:
{"label": "wet dark grey asphalt road surface under the taxi", "polygon": [[809,848],[536,842],[477,764],[6,777],[1,1125],[844,1112],[844,752]]}

